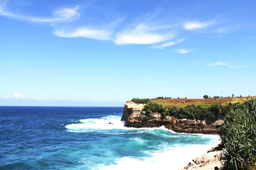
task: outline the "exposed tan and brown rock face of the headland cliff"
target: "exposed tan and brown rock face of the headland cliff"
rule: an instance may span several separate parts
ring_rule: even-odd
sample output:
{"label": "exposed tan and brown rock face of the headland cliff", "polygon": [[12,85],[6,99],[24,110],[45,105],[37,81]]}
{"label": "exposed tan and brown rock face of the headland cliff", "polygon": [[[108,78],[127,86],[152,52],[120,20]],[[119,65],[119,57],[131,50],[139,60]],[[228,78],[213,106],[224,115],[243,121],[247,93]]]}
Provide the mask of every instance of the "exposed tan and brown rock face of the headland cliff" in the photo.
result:
{"label": "exposed tan and brown rock face of the headland cliff", "polygon": [[136,104],[128,101],[124,104],[124,113],[121,121],[125,121],[126,127],[164,127],[175,132],[214,134],[223,123],[222,120],[196,121],[187,119],[175,119],[174,117],[161,117],[159,113],[146,115],[142,109],[144,104]]}

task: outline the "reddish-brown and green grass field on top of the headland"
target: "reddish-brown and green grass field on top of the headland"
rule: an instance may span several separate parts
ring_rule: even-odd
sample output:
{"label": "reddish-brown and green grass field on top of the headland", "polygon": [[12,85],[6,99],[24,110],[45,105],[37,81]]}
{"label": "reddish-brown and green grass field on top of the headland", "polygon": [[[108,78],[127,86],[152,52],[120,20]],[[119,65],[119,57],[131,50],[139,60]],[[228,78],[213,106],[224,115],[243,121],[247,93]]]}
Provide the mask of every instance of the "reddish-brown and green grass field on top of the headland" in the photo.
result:
{"label": "reddish-brown and green grass field on top of the headland", "polygon": [[[211,105],[215,104],[224,104],[227,105],[228,103],[238,103],[238,102],[245,102],[249,101],[251,97],[234,97],[234,98],[222,98],[222,99],[150,99],[154,103],[158,103],[163,105],[164,107],[173,107],[176,106],[186,107],[188,105],[200,105],[202,107],[210,107]],[[180,103],[181,101],[185,101],[185,103]]]}

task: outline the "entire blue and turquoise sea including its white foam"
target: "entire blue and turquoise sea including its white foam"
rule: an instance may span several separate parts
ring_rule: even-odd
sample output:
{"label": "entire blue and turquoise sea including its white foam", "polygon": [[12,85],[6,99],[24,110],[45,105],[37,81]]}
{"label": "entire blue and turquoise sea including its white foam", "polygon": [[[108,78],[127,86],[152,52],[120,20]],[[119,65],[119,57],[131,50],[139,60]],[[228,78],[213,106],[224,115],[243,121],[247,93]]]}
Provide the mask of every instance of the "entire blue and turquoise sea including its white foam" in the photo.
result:
{"label": "entire blue and turquoise sea including its white foam", "polygon": [[0,169],[175,170],[220,143],[214,135],[124,127],[123,109],[0,106]]}

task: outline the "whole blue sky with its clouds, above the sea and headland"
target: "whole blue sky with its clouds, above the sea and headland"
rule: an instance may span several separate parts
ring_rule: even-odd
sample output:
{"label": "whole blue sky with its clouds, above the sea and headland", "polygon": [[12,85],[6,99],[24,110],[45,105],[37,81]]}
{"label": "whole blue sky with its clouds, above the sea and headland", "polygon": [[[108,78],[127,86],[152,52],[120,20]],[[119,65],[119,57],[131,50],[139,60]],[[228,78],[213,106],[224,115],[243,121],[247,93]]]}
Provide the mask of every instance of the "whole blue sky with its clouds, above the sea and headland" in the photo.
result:
{"label": "whole blue sky with its clouds, above the sea and headland", "polygon": [[256,1],[0,0],[0,105],[256,95]]}

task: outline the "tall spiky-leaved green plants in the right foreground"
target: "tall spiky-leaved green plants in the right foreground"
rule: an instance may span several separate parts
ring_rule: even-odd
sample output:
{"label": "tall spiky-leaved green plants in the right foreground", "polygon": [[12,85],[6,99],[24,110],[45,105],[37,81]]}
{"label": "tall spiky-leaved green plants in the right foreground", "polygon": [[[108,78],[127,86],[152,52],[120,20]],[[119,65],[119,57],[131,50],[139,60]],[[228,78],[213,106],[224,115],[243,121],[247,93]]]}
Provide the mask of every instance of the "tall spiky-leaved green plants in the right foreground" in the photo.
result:
{"label": "tall spiky-leaved green plants in the right foreground", "polygon": [[244,108],[231,108],[220,127],[224,144],[224,156],[228,169],[251,169],[256,167],[256,99],[252,98]]}

